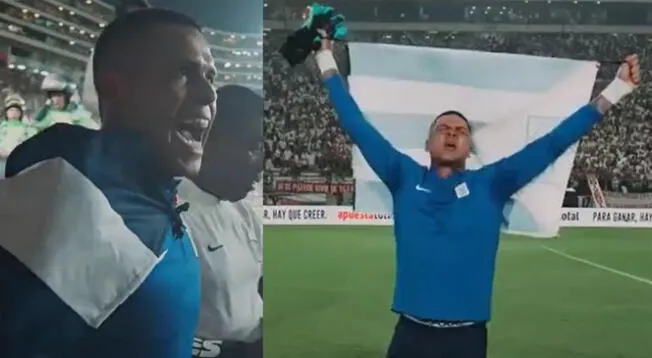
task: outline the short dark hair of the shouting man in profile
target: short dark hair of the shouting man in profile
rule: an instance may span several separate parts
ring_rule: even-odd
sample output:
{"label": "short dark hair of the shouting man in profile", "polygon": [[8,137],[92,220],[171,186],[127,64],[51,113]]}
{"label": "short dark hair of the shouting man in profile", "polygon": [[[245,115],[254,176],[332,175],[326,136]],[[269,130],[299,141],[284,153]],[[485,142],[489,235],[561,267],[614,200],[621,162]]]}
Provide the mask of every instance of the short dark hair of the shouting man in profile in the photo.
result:
{"label": "short dark hair of the shouting man in profile", "polygon": [[187,26],[201,32],[201,26],[195,20],[182,13],[167,9],[143,9],[116,18],[102,31],[95,44],[93,82],[98,94],[100,94],[98,88],[99,75],[104,71],[105,67],[118,56],[129,56],[123,51],[127,48],[124,44],[151,27],[158,25]]}

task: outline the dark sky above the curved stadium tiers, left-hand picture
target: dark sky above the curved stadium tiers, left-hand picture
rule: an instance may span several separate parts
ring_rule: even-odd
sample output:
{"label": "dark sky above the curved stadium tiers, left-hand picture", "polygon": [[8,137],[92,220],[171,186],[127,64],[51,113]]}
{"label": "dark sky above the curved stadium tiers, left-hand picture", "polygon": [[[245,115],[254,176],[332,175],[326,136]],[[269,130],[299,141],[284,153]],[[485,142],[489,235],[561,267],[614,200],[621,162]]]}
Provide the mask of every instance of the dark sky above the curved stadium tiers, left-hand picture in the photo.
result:
{"label": "dark sky above the curved stadium tiers, left-hand picture", "polygon": [[[116,5],[120,0],[105,0]],[[215,29],[261,33],[263,0],[149,0],[153,6],[183,12]]]}

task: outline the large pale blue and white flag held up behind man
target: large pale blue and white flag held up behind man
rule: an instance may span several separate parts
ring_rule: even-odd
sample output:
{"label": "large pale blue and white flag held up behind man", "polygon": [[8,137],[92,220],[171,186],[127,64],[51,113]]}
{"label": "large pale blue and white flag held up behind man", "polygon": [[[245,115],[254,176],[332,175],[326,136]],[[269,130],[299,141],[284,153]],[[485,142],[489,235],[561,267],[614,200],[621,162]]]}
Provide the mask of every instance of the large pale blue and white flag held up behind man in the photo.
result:
{"label": "large pale blue and white flag held up behind man", "polygon": [[[429,165],[434,117],[457,110],[473,126],[469,168],[508,156],[586,104],[595,62],[426,47],[350,44],[353,97],[400,151]],[[555,236],[576,146],[506,205],[507,232]],[[353,154],[356,211],[390,213],[391,195],[360,152]],[[471,218],[469,218],[471,219]]]}

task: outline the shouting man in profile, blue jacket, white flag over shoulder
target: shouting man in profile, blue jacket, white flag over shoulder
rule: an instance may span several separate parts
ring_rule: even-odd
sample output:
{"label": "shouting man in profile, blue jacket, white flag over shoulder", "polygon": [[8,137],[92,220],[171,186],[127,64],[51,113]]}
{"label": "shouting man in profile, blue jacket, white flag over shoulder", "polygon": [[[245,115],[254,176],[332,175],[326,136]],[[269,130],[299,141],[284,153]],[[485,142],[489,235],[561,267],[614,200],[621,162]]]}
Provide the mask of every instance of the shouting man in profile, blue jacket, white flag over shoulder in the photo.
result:
{"label": "shouting man in profile, blue jacket, white flag over shoulder", "polygon": [[102,128],[58,123],[0,181],[0,357],[189,358],[200,305],[180,218],[215,118],[201,27],[169,10],[111,22],[93,58]]}

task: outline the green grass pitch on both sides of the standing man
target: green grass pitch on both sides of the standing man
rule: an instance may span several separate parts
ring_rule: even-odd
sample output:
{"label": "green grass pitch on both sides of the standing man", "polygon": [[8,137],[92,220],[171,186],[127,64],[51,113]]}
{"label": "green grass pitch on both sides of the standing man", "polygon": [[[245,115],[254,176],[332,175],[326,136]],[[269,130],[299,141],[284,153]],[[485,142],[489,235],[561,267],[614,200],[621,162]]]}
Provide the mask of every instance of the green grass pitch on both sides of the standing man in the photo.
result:
{"label": "green grass pitch on both sides of the standing man", "polygon": [[[265,358],[382,358],[393,278],[390,228],[266,226]],[[652,230],[504,237],[490,357],[650,358],[651,280]]]}

